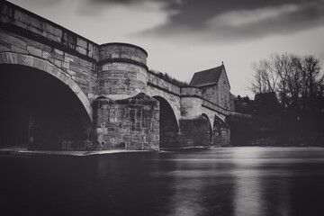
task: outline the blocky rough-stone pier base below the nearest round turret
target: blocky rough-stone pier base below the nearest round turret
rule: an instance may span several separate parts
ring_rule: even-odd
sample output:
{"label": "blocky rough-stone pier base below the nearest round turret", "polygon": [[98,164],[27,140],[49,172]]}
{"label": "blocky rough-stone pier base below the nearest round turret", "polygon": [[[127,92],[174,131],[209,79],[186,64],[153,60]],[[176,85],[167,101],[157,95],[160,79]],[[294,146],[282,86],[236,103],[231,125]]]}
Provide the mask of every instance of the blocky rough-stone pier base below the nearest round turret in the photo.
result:
{"label": "blocky rough-stone pier base below the nearest round turret", "polygon": [[94,102],[97,149],[158,150],[159,104],[146,94]]}

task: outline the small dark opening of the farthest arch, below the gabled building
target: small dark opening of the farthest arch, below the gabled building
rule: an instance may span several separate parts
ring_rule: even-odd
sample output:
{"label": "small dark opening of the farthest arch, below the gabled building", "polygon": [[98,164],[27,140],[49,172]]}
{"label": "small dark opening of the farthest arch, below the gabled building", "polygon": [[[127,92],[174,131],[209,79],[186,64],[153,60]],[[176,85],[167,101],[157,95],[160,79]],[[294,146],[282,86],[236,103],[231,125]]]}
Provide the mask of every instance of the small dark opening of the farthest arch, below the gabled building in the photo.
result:
{"label": "small dark opening of the farthest arch, below the gabled building", "polygon": [[229,145],[229,125],[215,114],[213,124],[213,144],[225,146]]}

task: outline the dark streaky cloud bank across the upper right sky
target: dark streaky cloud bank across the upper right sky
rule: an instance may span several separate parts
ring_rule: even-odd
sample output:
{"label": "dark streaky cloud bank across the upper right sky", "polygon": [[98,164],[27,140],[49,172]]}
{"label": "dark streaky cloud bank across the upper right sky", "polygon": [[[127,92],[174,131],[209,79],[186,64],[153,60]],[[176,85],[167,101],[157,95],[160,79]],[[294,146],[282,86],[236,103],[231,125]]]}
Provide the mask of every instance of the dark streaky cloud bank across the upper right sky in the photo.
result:
{"label": "dark streaky cloud bank across the upper right sky", "polygon": [[[149,0],[94,0],[97,4],[139,4]],[[240,40],[262,37],[269,34],[282,34],[301,31],[324,24],[324,0],[155,0],[163,3],[168,13],[167,23],[139,32],[139,36],[186,37],[195,40]],[[294,10],[289,10],[289,6]],[[286,11],[281,8],[288,8]],[[261,11],[260,11],[261,10]],[[265,16],[273,10],[276,16]],[[243,12],[243,14],[239,14]],[[235,16],[237,13],[237,16]],[[245,14],[244,14],[245,13]],[[249,14],[247,14],[249,13]],[[255,15],[253,13],[256,13]],[[257,14],[259,13],[259,14]],[[228,14],[226,19],[218,17]],[[230,15],[233,15],[231,18]],[[253,22],[230,24],[238,19],[257,19]],[[224,18],[224,17],[222,17]],[[189,36],[189,37],[188,37]]]}

